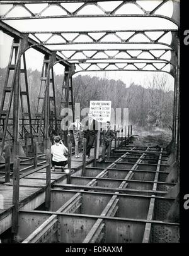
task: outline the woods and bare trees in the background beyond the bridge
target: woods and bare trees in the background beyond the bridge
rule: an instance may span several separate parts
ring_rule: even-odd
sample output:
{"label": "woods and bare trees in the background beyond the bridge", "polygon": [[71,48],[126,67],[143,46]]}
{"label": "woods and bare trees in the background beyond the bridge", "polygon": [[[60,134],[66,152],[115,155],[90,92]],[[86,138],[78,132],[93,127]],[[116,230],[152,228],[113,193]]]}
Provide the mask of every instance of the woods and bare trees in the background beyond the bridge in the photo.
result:
{"label": "woods and bare trees in the background beyond the bridge", "polygon": [[[6,68],[0,68],[1,92],[3,92],[5,76]],[[34,118],[40,89],[40,71],[28,69],[27,77],[31,114]],[[59,113],[63,75],[54,75],[54,79],[57,113]],[[132,125],[160,128],[172,126],[174,92],[166,89],[167,76],[162,73],[156,73],[151,79],[146,80],[145,87],[135,83],[130,83],[126,87],[121,80],[108,80],[89,75],[78,75],[72,78],[72,81],[74,102],[79,102],[81,109],[89,107],[90,101],[112,101],[114,109],[129,108],[129,121]],[[22,82],[23,78],[21,78]]]}

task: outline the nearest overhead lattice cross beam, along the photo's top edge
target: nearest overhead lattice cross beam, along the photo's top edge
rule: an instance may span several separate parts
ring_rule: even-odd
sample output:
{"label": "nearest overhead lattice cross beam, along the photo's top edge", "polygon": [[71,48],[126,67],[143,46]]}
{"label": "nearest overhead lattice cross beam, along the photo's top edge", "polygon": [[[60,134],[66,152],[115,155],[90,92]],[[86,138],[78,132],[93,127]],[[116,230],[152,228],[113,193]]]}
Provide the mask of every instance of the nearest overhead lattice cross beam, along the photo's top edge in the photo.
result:
{"label": "nearest overhead lattice cross beam, along the photo's top edge", "polygon": [[[115,0],[114,0],[115,1]],[[166,20],[172,21],[176,25],[179,26],[179,20],[177,19],[178,17],[176,15],[173,15],[172,18],[169,18],[168,16],[164,15],[159,15],[156,14],[156,11],[159,11],[159,9],[164,6],[169,0],[163,0],[155,8],[153,8],[151,11],[148,11],[147,9],[144,9],[139,3],[137,3],[136,0],[125,0],[122,1],[122,3],[118,3],[116,7],[114,7],[111,11],[108,11],[106,9],[106,6],[101,6],[101,4],[97,1],[1,1],[1,4],[6,4],[6,5],[11,5],[6,12],[1,15],[1,20],[28,20],[28,19],[42,19],[42,18],[86,18],[86,17],[156,17],[156,18],[164,18]],[[113,2],[113,1],[112,1]],[[174,1],[174,4],[176,5],[178,1]],[[31,5],[33,4],[43,4],[43,8],[38,11],[38,13],[34,13],[32,11]],[[69,8],[67,8],[65,3],[69,4],[76,4],[76,3],[82,3],[81,6],[76,6],[74,8],[74,11],[69,11]],[[28,6],[30,4],[30,6]],[[122,14],[122,9],[124,11],[125,6],[127,4],[132,4],[134,6],[135,13],[130,15],[130,14]],[[16,7],[20,7],[23,9],[27,14],[26,16],[18,16],[14,14],[11,16],[11,11],[13,11]],[[52,6],[56,7],[55,11],[52,8]],[[82,11],[86,9],[88,6],[95,6],[95,9],[97,13],[100,14],[79,14],[79,12],[82,13]],[[57,9],[59,10],[60,15],[56,15]],[[45,13],[47,11],[50,11],[50,15],[48,13]],[[20,13],[20,12],[18,12]],[[121,13],[121,14],[119,14]]]}

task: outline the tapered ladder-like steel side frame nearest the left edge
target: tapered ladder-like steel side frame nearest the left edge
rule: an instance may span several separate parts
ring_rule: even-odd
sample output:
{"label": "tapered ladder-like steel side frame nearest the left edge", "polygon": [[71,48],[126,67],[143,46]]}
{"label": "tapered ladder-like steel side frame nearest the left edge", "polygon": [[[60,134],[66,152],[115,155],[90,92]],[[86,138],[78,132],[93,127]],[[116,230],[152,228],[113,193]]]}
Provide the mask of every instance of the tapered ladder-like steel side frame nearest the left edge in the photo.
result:
{"label": "tapered ladder-like steel side frame nearest the left edge", "polygon": [[[11,53],[9,56],[9,63],[8,69],[6,72],[6,79],[4,82],[4,89],[1,101],[1,110],[0,110],[0,119],[2,120],[3,117],[5,119],[4,126],[3,126],[3,135],[1,137],[1,155],[3,154],[4,144],[6,140],[6,134],[11,132],[8,130],[8,121],[11,113],[12,102],[14,99],[13,104],[13,127],[16,127],[14,124],[15,118],[17,119],[19,116],[18,108],[19,108],[19,94],[20,94],[20,102],[21,102],[21,113],[22,118],[26,118],[29,121],[29,131],[27,131],[24,126],[22,129],[29,134],[31,138],[31,150],[33,151],[33,133],[31,128],[31,111],[30,111],[30,99],[28,93],[28,80],[27,80],[27,71],[26,71],[26,58],[25,53],[21,52],[23,48],[23,39],[14,39],[13,44],[11,46]],[[23,68],[21,68],[21,58],[23,58]],[[11,79],[11,70],[13,70],[13,77],[11,80],[11,84],[9,85],[9,80]],[[25,81],[25,88],[21,88],[21,81],[20,81],[20,74],[24,74],[24,81]],[[20,92],[20,93],[19,93]],[[23,96],[26,96],[26,108],[25,111],[24,103],[23,103]],[[16,100],[17,97],[17,100]],[[8,102],[6,102],[8,99]],[[7,103],[7,106],[6,106]],[[16,116],[17,115],[17,116]],[[18,128],[17,128],[18,129]],[[16,130],[17,130],[16,129]],[[14,128],[13,128],[14,130]],[[12,131],[13,132],[13,131]],[[14,142],[18,143],[18,132],[13,134],[13,154],[18,154],[18,149],[14,147]]]}

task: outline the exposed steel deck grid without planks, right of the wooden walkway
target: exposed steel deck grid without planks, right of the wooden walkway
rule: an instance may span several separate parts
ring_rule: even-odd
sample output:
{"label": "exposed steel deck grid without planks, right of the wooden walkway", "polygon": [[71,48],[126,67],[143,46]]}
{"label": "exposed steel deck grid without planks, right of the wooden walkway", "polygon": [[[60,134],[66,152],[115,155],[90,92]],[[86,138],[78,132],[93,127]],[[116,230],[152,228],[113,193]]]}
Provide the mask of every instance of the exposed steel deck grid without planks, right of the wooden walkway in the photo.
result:
{"label": "exposed steel deck grid without planks, right of the wooden walkway", "polygon": [[180,224],[166,221],[175,203],[166,160],[163,148],[120,145],[110,162],[72,173],[71,184],[54,183],[48,211],[20,210],[16,241],[178,243]]}

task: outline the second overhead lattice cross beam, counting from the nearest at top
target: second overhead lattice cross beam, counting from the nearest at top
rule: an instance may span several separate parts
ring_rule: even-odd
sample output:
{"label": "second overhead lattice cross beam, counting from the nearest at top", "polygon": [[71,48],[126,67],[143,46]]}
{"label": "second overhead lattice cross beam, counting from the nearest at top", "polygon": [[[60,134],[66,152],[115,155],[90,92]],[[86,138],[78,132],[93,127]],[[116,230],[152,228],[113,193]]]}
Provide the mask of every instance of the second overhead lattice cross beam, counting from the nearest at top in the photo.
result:
{"label": "second overhead lattice cross beam, counting from the nearest at top", "polygon": [[[23,32],[31,34],[40,44],[46,46],[52,45],[70,45],[70,44],[161,44],[171,49],[176,48],[166,42],[162,42],[164,36],[171,32],[174,41],[178,35],[178,30],[161,29],[161,30],[96,30],[96,31],[59,31],[59,32]],[[154,33],[157,33],[154,35]],[[43,34],[49,35],[43,40]],[[113,39],[110,39],[110,36]],[[59,37],[59,42],[56,42]],[[70,39],[72,37],[72,39]],[[84,39],[83,39],[84,37]],[[141,38],[138,39],[138,37]],[[53,40],[55,39],[55,42]]]}

